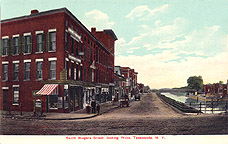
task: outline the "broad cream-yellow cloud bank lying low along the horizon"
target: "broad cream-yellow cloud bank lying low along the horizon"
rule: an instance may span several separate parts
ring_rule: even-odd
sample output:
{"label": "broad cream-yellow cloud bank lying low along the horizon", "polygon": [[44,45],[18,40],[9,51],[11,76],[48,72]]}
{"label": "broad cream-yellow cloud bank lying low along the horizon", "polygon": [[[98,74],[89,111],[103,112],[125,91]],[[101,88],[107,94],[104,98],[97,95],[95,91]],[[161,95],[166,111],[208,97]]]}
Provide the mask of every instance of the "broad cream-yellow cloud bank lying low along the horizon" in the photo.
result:
{"label": "broad cream-yellow cloud bank lying low along the horizon", "polygon": [[215,83],[228,78],[228,52],[213,57],[188,57],[181,62],[165,62],[179,58],[169,51],[161,54],[144,56],[117,56],[115,64],[134,68],[138,74],[138,82],[149,85],[151,88],[182,87],[187,85],[190,76],[201,75],[204,83]]}

